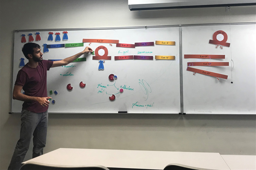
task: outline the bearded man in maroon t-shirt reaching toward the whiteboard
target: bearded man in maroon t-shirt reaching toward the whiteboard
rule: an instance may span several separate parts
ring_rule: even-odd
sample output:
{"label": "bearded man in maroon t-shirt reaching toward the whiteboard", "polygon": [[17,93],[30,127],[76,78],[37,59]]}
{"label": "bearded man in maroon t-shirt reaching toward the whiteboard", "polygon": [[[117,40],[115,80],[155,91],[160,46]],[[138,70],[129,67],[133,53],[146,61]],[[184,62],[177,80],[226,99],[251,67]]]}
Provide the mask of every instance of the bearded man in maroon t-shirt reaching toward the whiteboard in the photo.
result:
{"label": "bearded man in maroon t-shirt reaching toward the whiteboard", "polygon": [[[93,52],[89,47],[71,57],[49,61],[43,60],[38,44],[26,43],[22,52],[29,62],[20,69],[13,88],[13,99],[24,101],[21,111],[20,139],[18,140],[8,170],[19,170],[33,135],[33,154],[35,158],[43,154],[48,125],[47,71],[52,67],[67,65],[81,55]],[[21,93],[24,90],[25,94]]]}

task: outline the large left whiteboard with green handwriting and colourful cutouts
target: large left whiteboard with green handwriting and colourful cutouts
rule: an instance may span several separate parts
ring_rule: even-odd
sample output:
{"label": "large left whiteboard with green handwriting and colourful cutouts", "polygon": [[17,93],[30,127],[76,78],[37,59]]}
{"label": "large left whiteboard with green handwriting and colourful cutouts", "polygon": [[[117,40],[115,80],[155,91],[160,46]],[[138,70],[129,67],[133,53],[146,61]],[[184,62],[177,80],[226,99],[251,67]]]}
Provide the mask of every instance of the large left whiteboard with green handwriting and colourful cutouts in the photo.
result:
{"label": "large left whiteboard with green handwriting and colourful cutouts", "polygon": [[[77,43],[83,39],[119,40],[119,43],[134,44],[135,42],[175,41],[176,45],[142,46],[135,48],[116,47],[116,44],[84,42],[84,47],[49,48],[44,53],[44,59],[64,59],[81,52],[86,46],[95,50],[103,45],[108,49],[111,60],[105,60],[104,70],[99,70],[99,61],[93,60],[92,54],[86,54],[84,62],[72,62],[65,67],[51,68],[47,71],[48,96],[55,100],[49,104],[49,113],[179,113],[180,112],[180,73],[179,73],[179,28],[122,28],[122,29],[92,29],[92,30],[54,30],[60,32],[61,41],[48,41],[49,32],[39,31],[41,40],[34,41],[41,46]],[[62,32],[68,31],[68,40],[62,40]],[[15,32],[14,61],[13,61],[13,86],[20,70],[20,58],[25,58],[21,48],[21,34],[25,34],[27,42],[28,34],[32,33],[35,39],[35,31]],[[114,56],[145,55],[153,56],[153,60],[115,60]],[[155,55],[175,56],[174,60],[157,60]],[[25,64],[28,62],[25,59]],[[117,79],[110,81],[110,74]],[[64,76],[63,76],[64,75]],[[80,88],[79,83],[86,84]],[[71,84],[73,89],[67,90]],[[120,93],[120,88],[123,92]],[[58,94],[50,94],[57,91]],[[109,99],[115,94],[116,99]],[[12,100],[12,112],[20,113],[22,103]]]}

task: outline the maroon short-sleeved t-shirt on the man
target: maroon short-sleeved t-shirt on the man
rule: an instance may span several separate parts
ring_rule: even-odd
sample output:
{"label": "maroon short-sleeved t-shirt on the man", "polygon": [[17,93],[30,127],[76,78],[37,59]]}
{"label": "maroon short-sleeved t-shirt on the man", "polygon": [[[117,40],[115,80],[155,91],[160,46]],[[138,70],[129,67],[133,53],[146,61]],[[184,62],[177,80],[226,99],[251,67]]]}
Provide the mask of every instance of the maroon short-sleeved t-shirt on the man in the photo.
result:
{"label": "maroon short-sleeved t-shirt on the man", "polygon": [[[27,64],[17,74],[15,85],[22,85],[27,96],[47,97],[47,70],[51,68],[53,61],[43,60],[38,62],[36,68],[31,68]],[[34,113],[47,111],[47,107],[41,106],[38,102],[24,102],[23,109]]]}

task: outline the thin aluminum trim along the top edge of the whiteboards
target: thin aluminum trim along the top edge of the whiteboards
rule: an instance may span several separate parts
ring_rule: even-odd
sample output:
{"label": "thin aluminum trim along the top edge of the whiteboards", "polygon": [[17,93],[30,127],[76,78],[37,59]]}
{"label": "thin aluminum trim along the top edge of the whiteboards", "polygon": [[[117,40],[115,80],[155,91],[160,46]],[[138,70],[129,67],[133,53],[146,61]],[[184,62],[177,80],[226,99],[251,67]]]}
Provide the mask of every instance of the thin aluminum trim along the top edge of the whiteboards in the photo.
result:
{"label": "thin aluminum trim along the top edge of the whiteboards", "polygon": [[186,26],[219,26],[219,25],[241,25],[241,24],[256,24],[256,22],[239,22],[239,23],[206,23],[206,24],[184,24],[184,25],[163,25],[163,26],[130,26],[130,27],[102,27],[102,28],[48,28],[48,29],[23,29],[14,30],[14,32],[24,31],[76,31],[76,30],[101,30],[101,29],[133,29],[133,28],[161,28],[161,27],[186,27]]}

